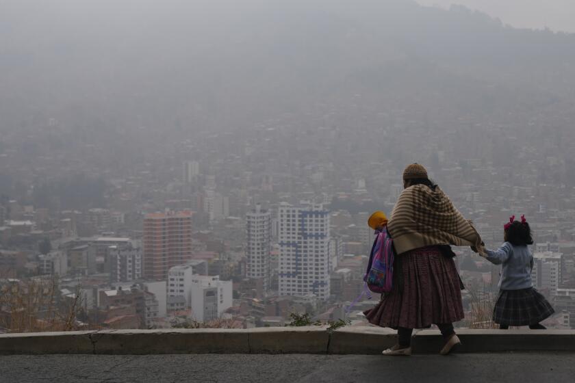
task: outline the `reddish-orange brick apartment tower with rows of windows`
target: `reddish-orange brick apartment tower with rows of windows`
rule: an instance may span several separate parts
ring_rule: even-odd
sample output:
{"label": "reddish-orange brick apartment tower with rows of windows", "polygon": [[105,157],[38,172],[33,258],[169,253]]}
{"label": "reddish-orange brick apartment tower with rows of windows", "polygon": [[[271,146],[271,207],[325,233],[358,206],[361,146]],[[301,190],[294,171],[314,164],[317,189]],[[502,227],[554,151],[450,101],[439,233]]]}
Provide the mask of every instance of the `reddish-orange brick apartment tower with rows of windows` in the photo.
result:
{"label": "reddish-orange brick apartment tower with rows of windows", "polygon": [[146,215],[143,243],[144,277],[165,280],[170,267],[192,256],[192,212]]}

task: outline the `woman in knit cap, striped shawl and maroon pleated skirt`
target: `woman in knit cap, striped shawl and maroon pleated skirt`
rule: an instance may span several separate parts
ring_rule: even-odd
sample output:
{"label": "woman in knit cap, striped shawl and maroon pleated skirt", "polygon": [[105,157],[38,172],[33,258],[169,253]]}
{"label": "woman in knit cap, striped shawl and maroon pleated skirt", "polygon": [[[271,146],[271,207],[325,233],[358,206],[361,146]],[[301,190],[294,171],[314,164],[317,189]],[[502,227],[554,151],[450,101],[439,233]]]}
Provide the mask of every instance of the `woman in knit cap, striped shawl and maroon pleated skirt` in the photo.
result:
{"label": "woman in knit cap, striped shawl and maroon pleated skirt", "polygon": [[473,246],[484,254],[481,237],[418,163],[403,172],[404,190],[387,229],[394,240],[394,287],[365,312],[377,326],[398,330],[398,343],[384,355],[411,355],[414,328],[436,324],[449,354],[461,344],[452,323],[463,319],[461,280],[449,245]]}

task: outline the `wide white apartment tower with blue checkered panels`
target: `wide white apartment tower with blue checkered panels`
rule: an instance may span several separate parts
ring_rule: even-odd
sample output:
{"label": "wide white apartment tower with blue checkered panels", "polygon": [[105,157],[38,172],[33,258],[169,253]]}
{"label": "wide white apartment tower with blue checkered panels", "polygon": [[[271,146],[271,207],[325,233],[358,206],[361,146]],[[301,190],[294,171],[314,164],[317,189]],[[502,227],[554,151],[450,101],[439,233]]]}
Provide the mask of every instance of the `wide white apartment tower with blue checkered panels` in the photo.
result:
{"label": "wide white apartment tower with blue checkered panels", "polygon": [[282,203],[279,220],[279,294],[330,294],[329,212],[321,204]]}

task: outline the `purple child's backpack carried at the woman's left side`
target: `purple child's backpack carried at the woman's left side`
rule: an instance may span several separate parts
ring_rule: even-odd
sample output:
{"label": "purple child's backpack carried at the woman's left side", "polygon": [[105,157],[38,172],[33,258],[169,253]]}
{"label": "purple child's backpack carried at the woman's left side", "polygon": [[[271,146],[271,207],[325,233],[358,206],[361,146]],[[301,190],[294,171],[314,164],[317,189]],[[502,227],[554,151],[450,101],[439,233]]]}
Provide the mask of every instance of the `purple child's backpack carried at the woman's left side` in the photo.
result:
{"label": "purple child's backpack carried at the woman's left side", "polygon": [[370,254],[368,269],[363,280],[368,289],[374,293],[389,293],[392,291],[394,277],[393,239],[389,237],[387,228],[376,232],[375,241]]}

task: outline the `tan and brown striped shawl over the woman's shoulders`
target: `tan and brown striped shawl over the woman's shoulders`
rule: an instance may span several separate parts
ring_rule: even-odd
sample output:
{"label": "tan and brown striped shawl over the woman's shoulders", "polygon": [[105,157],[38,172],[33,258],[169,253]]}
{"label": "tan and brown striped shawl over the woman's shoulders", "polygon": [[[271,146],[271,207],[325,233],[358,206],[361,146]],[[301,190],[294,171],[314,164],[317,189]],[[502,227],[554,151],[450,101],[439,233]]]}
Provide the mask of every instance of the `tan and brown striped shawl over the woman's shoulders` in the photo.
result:
{"label": "tan and brown striped shawl over the woman's shoulders", "polygon": [[481,237],[439,186],[405,189],[389,217],[389,234],[397,254],[433,245],[474,246],[485,254]]}

